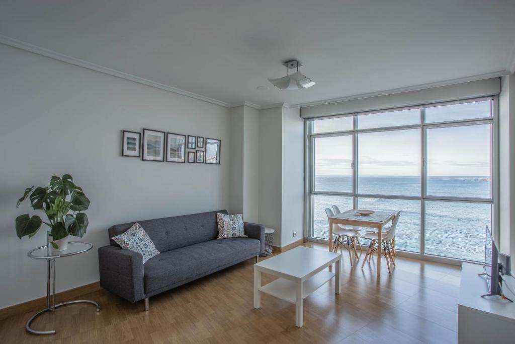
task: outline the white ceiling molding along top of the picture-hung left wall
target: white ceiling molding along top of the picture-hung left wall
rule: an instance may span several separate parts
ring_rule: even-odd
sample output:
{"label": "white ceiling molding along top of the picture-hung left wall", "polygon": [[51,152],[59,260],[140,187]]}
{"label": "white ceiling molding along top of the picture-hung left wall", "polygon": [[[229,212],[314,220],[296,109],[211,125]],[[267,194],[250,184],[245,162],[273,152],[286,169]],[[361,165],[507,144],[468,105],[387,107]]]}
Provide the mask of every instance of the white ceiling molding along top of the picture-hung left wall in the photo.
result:
{"label": "white ceiling molding along top of the picture-hung left wall", "polygon": [[43,55],[43,56],[46,56],[46,57],[49,57],[49,58],[53,58],[53,59],[56,59],[56,60],[59,60],[59,61],[62,61],[62,62],[78,65],[79,67],[88,68],[88,69],[91,69],[91,70],[94,70],[94,71],[97,71],[97,72],[100,72],[100,73],[105,73],[105,74],[116,76],[116,77],[119,77],[119,78],[122,78],[122,79],[134,81],[135,83],[143,84],[143,85],[150,86],[150,87],[159,88],[161,90],[165,90],[165,91],[168,91],[168,92],[173,92],[173,93],[185,95],[185,96],[192,97],[194,99],[198,99],[198,100],[201,100],[201,101],[204,101],[204,102],[208,102],[208,103],[212,103],[212,104],[216,104],[216,105],[220,105],[220,106],[225,106],[225,107],[231,107],[231,105],[229,103],[226,103],[226,102],[222,102],[222,101],[219,101],[219,100],[216,100],[216,99],[212,99],[210,97],[206,97],[206,96],[203,96],[203,95],[200,95],[200,94],[196,94],[196,93],[193,93],[193,92],[188,92],[188,91],[185,91],[185,90],[181,90],[179,88],[175,88],[175,87],[167,86],[167,85],[164,85],[164,84],[156,83],[155,81],[144,79],[144,78],[141,78],[139,76],[132,75],[132,74],[127,74],[127,73],[116,71],[114,69],[110,69],[110,68],[107,68],[107,67],[102,67],[101,65],[98,65],[98,64],[95,64],[95,63],[91,63],[91,62],[84,61],[84,60],[81,60],[81,59],[78,59],[78,58],[75,58],[75,57],[71,57],[71,56],[67,56],[67,55],[64,55],[64,54],[60,54],[60,53],[57,53],[57,52],[54,52],[54,51],[42,48],[40,46],[33,45],[33,44],[30,44],[30,43],[25,43],[25,42],[22,42],[22,41],[19,41],[17,39],[10,38],[10,37],[7,37],[7,36],[0,35],[0,43],[6,44],[6,45],[9,45],[9,46],[13,46],[15,48],[19,48],[19,49],[22,49],[22,50],[26,50],[26,51],[31,52],[31,53],[35,53],[35,54]]}

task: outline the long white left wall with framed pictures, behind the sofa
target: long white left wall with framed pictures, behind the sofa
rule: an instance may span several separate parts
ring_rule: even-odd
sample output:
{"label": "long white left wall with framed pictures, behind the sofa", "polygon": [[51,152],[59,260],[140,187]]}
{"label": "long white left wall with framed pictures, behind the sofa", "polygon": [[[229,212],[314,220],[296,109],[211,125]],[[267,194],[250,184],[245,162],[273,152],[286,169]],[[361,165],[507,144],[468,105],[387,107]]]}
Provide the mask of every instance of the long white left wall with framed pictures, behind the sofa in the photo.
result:
{"label": "long white left wall with framed pictures, behind the sofa", "polygon": [[[227,108],[0,44],[0,308],[44,296],[45,242],[18,239],[16,200],[32,185],[70,173],[91,200],[94,249],[56,263],[57,291],[98,281],[97,248],[115,223],[229,206]],[[121,157],[121,130],[153,128],[221,139],[221,165]]]}

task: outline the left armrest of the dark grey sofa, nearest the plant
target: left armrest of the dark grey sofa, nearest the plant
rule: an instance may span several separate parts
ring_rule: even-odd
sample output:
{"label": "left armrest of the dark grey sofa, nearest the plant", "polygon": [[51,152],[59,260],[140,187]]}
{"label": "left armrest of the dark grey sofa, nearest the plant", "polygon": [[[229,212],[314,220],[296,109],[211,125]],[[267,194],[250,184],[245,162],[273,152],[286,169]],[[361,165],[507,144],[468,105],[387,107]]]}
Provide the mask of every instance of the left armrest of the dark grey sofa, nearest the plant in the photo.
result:
{"label": "left armrest of the dark grey sofa, nearest the plant", "polygon": [[130,301],[145,298],[143,256],[115,246],[98,249],[100,286]]}

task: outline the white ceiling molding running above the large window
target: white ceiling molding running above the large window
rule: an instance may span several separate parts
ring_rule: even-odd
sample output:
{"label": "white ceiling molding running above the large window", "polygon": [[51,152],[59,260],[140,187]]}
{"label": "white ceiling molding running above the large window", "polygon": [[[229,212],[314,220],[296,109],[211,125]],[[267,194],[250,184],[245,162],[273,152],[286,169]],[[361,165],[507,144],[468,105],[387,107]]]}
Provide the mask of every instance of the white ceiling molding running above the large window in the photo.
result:
{"label": "white ceiling molding running above the large window", "polygon": [[467,83],[468,81],[489,79],[489,78],[499,77],[499,76],[503,76],[503,75],[507,75],[507,74],[511,74],[511,73],[507,70],[504,70],[504,71],[498,71],[498,72],[493,72],[493,73],[479,74],[479,75],[467,76],[467,77],[463,77],[463,78],[438,81],[437,83],[429,83],[429,84],[422,84],[422,85],[416,85],[416,86],[402,87],[402,88],[396,88],[396,89],[379,91],[379,92],[362,93],[362,94],[350,95],[350,96],[341,97],[341,98],[328,99],[328,100],[324,100],[324,101],[292,104],[290,107],[293,107],[293,108],[294,107],[306,107],[306,106],[315,106],[315,105],[322,105],[322,104],[346,102],[346,101],[351,101],[351,100],[355,100],[355,99],[364,99],[364,98],[370,98],[370,97],[381,96],[381,95],[423,90],[423,89],[432,88],[432,87]]}

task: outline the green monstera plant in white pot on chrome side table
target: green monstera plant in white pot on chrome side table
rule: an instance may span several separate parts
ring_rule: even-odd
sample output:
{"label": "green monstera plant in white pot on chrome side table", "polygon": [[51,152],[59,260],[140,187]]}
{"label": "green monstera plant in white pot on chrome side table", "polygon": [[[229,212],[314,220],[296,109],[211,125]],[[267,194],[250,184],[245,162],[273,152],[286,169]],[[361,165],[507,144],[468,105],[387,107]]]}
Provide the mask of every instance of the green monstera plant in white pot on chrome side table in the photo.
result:
{"label": "green monstera plant in white pot on chrome side table", "polygon": [[48,222],[41,220],[38,215],[20,215],[16,218],[16,235],[20,239],[24,236],[35,236],[44,223],[50,227],[50,244],[54,250],[64,251],[70,235],[82,237],[86,233],[88,216],[82,211],[88,209],[90,200],[82,188],[73,183],[70,174],[65,174],[61,178],[53,176],[47,187],[26,188],[16,207],[27,198],[32,209],[45,212]]}

